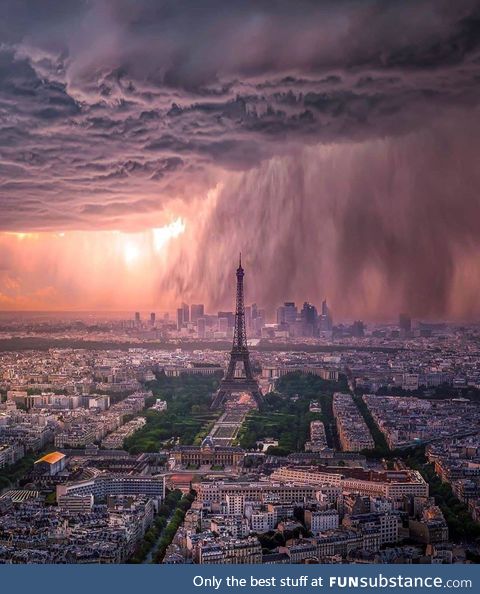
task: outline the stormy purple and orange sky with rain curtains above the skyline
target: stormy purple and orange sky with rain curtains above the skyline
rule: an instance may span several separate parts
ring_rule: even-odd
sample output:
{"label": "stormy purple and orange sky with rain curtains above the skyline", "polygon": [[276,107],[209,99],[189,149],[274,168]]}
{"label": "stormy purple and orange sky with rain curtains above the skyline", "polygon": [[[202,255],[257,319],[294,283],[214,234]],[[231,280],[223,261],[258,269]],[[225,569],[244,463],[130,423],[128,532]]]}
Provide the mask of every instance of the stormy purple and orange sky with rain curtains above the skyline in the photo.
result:
{"label": "stormy purple and orange sky with rain curtains above the skyline", "polygon": [[480,319],[480,2],[3,0],[0,309]]}

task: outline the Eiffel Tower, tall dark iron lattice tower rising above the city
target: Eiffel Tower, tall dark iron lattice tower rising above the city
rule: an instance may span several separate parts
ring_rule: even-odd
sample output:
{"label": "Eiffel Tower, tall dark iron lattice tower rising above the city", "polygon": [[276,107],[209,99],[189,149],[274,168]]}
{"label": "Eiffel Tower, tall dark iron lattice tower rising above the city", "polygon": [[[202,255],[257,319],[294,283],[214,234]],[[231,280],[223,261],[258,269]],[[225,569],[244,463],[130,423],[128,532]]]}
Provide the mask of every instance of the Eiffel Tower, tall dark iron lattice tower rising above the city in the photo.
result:
{"label": "Eiffel Tower, tall dark iron lattice tower rising above the city", "polygon": [[[237,305],[235,308],[235,330],[233,333],[233,346],[230,352],[230,362],[227,373],[220,383],[220,388],[215,394],[211,408],[218,408],[226,399],[237,392],[250,393],[257,405],[262,401],[262,393],[257,380],[253,377],[250,355],[247,347],[247,333],[245,331],[245,306],[243,303],[243,277],[242,254],[237,268]],[[237,364],[243,365],[244,374],[241,377],[235,374]]]}

